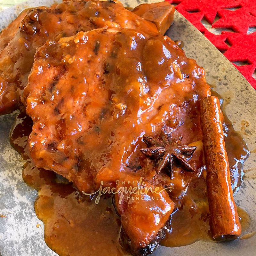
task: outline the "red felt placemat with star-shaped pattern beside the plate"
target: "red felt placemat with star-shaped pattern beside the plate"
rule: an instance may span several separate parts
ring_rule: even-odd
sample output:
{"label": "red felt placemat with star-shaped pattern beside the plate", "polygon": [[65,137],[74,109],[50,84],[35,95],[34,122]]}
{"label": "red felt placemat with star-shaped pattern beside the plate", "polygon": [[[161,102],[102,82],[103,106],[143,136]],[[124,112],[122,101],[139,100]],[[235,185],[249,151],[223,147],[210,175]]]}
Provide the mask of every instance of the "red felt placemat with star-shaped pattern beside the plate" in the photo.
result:
{"label": "red felt placemat with star-shaped pattern beside the plate", "polygon": [[[166,1],[177,4],[176,10],[223,52],[256,89],[256,80],[252,76],[256,68],[256,31],[247,34],[248,28],[256,27],[256,0]],[[233,9],[227,10],[230,8]],[[215,35],[204,27],[203,18],[212,28],[229,28],[234,32],[221,31],[220,35]]]}

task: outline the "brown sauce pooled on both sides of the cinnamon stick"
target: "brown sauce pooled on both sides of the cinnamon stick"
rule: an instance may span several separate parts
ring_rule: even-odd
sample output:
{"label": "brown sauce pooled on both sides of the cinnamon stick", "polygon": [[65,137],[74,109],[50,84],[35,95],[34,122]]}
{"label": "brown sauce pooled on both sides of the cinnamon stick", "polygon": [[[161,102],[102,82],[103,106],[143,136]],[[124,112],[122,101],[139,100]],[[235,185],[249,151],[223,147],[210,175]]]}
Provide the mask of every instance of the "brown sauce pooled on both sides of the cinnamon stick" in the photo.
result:
{"label": "brown sauce pooled on both sides of the cinnamon stick", "polygon": [[[216,95],[216,92],[212,92]],[[232,123],[224,114],[223,131],[225,136],[225,146],[228,154],[230,178],[233,193],[235,194],[243,181],[243,164],[249,156],[249,150],[241,138],[234,130]],[[166,226],[167,234],[162,241],[162,245],[168,247],[183,246],[193,244],[198,240],[212,240],[209,224],[210,212],[206,191],[206,169],[193,180],[187,189],[186,196],[182,201],[179,211],[172,213],[170,224]],[[250,217],[241,208],[237,207],[239,220],[243,231],[249,228]]]}

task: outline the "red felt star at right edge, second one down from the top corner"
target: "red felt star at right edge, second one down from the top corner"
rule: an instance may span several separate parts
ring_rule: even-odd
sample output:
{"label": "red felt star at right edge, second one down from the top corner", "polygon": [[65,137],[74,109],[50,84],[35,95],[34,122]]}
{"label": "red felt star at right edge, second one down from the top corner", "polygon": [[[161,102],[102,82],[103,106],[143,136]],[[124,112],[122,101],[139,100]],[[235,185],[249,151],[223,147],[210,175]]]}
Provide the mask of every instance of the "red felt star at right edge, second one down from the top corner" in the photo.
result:
{"label": "red felt star at right edge, second one down from the top corner", "polygon": [[247,61],[256,64],[256,32],[250,35],[242,35],[232,32],[222,32],[227,36],[231,47],[224,53],[230,61]]}

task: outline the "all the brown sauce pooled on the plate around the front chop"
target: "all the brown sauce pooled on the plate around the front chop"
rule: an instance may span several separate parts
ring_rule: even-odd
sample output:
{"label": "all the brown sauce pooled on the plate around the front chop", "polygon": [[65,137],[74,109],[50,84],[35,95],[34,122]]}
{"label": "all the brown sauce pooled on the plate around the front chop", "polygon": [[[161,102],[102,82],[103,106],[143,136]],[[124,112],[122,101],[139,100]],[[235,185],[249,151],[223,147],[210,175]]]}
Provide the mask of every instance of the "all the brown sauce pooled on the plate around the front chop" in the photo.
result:
{"label": "all the brown sauce pooled on the plate around the front chop", "polygon": [[[19,114],[10,134],[13,148],[24,160],[29,158],[26,143],[31,129],[31,119]],[[226,117],[224,130],[232,188],[236,192],[242,182],[242,167],[249,151]],[[205,178],[203,167],[189,184],[180,206],[172,213],[170,223],[165,227],[167,232],[162,245],[176,247],[198,240],[211,240]],[[38,190],[35,211],[44,222],[45,242],[53,251],[62,256],[125,254],[119,243],[121,221],[111,197],[101,198],[96,205],[95,199],[81,196],[72,183],[54,172],[35,167],[29,160],[24,165],[23,179]],[[250,217],[239,207],[238,214],[245,230]]]}

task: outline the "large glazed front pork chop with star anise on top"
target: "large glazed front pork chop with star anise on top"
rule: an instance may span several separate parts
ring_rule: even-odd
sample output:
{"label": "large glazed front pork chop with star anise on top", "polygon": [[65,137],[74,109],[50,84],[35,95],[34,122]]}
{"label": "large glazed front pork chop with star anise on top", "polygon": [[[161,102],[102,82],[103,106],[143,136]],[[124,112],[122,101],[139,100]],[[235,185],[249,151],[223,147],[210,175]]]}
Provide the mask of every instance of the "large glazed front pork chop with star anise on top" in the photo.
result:
{"label": "large glazed front pork chop with star anise on top", "polygon": [[[156,173],[140,151],[143,135],[164,130],[173,139],[183,135],[182,144],[200,141],[198,101],[208,95],[204,69],[166,36],[101,28],[47,41],[24,90],[33,120],[28,152],[37,167],[86,193],[140,176],[148,186],[172,187],[158,200],[115,200],[132,251],[145,254],[157,247],[174,208],[171,198],[195,174],[183,168],[173,168],[172,178]],[[189,164],[201,166],[193,159]]]}

